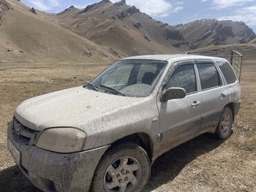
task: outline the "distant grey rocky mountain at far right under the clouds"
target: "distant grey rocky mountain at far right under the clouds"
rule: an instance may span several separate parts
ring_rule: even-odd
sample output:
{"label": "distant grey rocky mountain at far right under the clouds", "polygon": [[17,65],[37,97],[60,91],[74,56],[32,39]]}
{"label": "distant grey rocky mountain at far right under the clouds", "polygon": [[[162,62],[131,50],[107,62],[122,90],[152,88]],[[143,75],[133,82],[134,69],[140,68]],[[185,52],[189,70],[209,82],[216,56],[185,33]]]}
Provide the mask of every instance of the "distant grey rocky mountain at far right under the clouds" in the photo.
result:
{"label": "distant grey rocky mountain at far right under the clouds", "polygon": [[174,26],[188,40],[190,49],[225,44],[247,44],[256,35],[244,22],[196,20]]}

